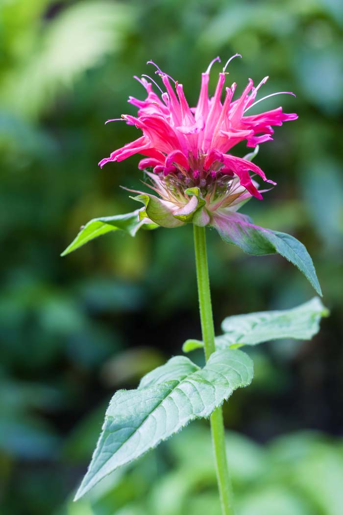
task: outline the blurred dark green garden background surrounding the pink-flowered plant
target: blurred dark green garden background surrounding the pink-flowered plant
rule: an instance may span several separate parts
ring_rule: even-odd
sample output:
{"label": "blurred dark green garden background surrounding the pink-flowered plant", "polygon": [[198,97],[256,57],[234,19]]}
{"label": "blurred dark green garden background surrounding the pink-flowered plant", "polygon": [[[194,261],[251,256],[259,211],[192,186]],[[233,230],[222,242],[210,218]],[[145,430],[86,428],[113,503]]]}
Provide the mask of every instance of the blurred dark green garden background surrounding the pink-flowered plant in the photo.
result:
{"label": "blurred dark green garden background surrounding the pink-flowered plant", "polygon": [[[299,114],[261,146],[256,163],[278,186],[245,212],[306,245],[331,310],[312,342],[250,352],[255,380],[225,407],[239,515],[341,515],[342,27],[340,0],[1,1],[2,514],[219,515],[206,422],[71,503],[113,392],[200,337],[191,227],[59,254],[90,218],[137,208],[119,186],[141,186],[138,158],[97,166],[139,135],[103,125],[135,112],[129,95],[144,98],[132,76],[153,74],[153,59],[194,105],[208,63],[239,52],[228,81],[242,91],[269,75],[263,94],[297,98],[259,107]],[[218,331],[227,315],[314,294],[279,257],[249,257],[213,232],[208,245]]]}

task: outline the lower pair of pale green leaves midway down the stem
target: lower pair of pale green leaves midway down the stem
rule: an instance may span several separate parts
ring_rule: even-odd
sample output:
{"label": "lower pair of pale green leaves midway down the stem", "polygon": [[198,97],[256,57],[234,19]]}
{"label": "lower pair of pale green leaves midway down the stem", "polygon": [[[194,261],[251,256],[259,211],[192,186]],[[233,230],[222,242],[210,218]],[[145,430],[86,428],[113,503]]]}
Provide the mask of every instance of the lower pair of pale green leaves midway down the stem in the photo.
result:
{"label": "lower pair of pale green leaves midway down the stem", "polygon": [[[208,417],[231,393],[250,384],[251,359],[233,349],[278,338],[310,339],[329,312],[318,297],[290,310],[227,317],[224,335],[203,369],[185,356],[145,375],[135,390],[119,390],[106,411],[102,433],[75,499],[195,418]],[[203,343],[187,340],[189,352]],[[230,348],[231,347],[231,348]]]}

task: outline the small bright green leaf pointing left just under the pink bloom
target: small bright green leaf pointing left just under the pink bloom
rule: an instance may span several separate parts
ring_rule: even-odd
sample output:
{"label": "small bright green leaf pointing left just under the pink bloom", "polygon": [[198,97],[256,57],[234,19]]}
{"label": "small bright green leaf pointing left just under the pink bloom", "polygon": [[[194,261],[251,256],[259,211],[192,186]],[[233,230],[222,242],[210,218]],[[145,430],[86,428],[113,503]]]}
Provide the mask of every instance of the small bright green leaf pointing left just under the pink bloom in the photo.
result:
{"label": "small bright green leaf pointing left just under the pink bloom", "polygon": [[62,252],[61,256],[65,256],[70,252],[82,247],[85,243],[91,241],[91,239],[97,238],[102,234],[106,234],[111,231],[124,231],[131,236],[135,236],[136,232],[142,227],[153,229],[157,227],[155,224],[151,224],[151,220],[147,218],[139,218],[139,209],[133,213],[127,213],[125,215],[105,216],[103,218],[93,218],[84,227],[81,228],[79,234],[76,236],[73,242]]}

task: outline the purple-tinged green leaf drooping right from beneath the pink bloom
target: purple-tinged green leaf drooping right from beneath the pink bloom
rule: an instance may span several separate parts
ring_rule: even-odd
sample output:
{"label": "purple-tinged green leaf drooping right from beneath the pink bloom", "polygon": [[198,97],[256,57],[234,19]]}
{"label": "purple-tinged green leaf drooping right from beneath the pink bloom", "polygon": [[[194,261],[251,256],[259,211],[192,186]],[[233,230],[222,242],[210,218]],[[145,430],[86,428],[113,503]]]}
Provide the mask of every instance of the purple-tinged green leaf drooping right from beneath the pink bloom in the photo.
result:
{"label": "purple-tinged green leaf drooping right from beneath the pink bloom", "polygon": [[240,213],[218,211],[213,215],[211,225],[224,242],[237,245],[247,254],[281,254],[299,268],[317,293],[322,295],[311,256],[294,236],[256,226],[249,217]]}

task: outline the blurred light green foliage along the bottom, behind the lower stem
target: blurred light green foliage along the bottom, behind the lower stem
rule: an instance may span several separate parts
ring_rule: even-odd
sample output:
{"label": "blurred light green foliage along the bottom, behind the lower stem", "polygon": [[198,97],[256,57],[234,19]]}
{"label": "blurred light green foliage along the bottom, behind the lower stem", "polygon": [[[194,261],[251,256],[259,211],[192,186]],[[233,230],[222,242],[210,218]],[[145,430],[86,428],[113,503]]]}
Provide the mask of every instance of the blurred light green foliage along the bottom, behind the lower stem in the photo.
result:
{"label": "blurred light green foliage along the bottom, behind the lower stem", "polygon": [[[338,515],[341,444],[320,433],[297,432],[262,446],[228,432],[226,450],[237,514]],[[70,511],[60,514],[87,515],[90,510],[102,515],[196,515],[206,509],[220,515],[211,438],[200,422],[103,483],[83,500],[70,500]]]}

